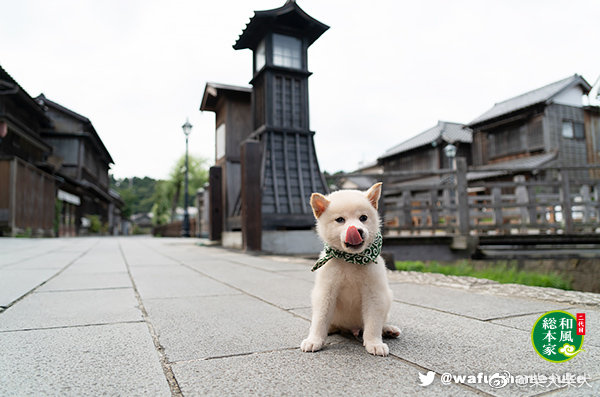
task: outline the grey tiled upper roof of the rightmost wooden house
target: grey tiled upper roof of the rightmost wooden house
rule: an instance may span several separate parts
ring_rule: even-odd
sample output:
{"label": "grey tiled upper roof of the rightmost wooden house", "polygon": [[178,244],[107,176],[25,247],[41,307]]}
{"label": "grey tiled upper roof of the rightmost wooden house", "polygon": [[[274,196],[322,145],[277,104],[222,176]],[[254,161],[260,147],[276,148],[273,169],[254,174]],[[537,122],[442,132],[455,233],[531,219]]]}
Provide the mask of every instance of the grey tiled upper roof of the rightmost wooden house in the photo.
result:
{"label": "grey tiled upper roof of the rightmost wooden house", "polygon": [[473,125],[485,122],[487,120],[491,120],[496,117],[512,113],[519,109],[524,109],[539,103],[549,102],[556,95],[574,85],[581,85],[588,91],[591,88],[591,86],[588,84],[587,81],[585,81],[583,77],[579,76],[578,74],[575,74],[573,76],[567,77],[566,79],[556,81],[544,87],[540,87],[538,89],[526,92],[514,98],[510,98],[505,101],[496,103],[491,109],[487,110],[475,120],[471,121],[468,125],[471,127]]}

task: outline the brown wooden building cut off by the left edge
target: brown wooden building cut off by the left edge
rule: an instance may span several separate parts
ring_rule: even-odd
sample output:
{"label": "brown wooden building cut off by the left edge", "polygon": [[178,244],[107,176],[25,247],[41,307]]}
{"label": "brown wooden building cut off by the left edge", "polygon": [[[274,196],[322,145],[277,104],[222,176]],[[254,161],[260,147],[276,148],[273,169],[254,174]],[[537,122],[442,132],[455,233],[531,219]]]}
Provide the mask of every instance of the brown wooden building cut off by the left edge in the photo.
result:
{"label": "brown wooden building cut off by the left edge", "polygon": [[40,135],[50,120],[0,67],[0,236],[54,234],[57,159]]}

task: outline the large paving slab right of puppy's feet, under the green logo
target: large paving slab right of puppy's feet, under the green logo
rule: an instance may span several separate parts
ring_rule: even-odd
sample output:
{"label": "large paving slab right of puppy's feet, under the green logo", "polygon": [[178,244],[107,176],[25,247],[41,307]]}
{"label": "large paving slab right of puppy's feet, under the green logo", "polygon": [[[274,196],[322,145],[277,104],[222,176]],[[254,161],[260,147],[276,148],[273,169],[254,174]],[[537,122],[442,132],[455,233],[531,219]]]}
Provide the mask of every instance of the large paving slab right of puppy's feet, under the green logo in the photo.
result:
{"label": "large paving slab right of puppy's feet, under the green logo", "polygon": [[[561,363],[542,359],[531,346],[531,329],[519,330],[491,322],[465,318],[437,310],[395,302],[390,322],[402,329],[398,339],[389,340],[390,353],[431,369],[438,374],[491,376],[508,371],[511,375],[567,372],[600,377],[600,349],[587,346],[585,354]],[[516,385],[494,389],[486,384],[477,389],[499,396],[535,395],[539,391]],[[546,389],[546,391],[552,388]]]}

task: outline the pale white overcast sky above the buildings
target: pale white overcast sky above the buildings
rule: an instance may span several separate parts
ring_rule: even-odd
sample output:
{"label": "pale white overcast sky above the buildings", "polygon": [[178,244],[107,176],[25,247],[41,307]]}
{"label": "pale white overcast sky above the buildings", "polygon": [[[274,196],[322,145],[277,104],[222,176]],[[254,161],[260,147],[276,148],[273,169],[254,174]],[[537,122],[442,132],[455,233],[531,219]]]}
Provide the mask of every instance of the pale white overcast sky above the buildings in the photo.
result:
{"label": "pale white overcast sky above the buildings", "polygon": [[[214,163],[207,81],[248,85],[232,45],[284,0],[0,0],[0,65],[31,95],[88,117],[116,177],[164,178],[190,151]],[[575,73],[600,76],[596,0],[298,0],[330,26],[309,49],[322,170],[350,171],[434,126],[468,123]]]}

